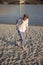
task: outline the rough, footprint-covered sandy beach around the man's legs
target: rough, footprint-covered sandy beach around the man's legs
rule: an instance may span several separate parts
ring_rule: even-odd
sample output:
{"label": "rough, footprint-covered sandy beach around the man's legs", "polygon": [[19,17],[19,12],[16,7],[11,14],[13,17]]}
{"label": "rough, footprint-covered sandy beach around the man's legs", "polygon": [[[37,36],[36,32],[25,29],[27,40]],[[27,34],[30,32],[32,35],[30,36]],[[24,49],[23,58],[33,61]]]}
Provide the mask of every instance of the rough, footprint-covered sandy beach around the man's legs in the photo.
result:
{"label": "rough, footprint-covered sandy beach around the man's legs", "polygon": [[43,26],[29,26],[22,50],[15,25],[0,24],[0,65],[43,65]]}

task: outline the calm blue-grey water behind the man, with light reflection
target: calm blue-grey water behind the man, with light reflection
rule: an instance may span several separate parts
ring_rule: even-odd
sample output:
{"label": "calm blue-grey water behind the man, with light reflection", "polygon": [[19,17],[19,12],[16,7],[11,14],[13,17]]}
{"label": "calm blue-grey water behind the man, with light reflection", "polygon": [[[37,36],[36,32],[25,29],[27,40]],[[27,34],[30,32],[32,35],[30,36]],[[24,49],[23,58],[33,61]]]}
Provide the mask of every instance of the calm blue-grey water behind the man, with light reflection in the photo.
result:
{"label": "calm blue-grey water behind the man, with light reflection", "polygon": [[29,14],[29,25],[43,25],[43,5],[0,5],[0,23],[16,23]]}

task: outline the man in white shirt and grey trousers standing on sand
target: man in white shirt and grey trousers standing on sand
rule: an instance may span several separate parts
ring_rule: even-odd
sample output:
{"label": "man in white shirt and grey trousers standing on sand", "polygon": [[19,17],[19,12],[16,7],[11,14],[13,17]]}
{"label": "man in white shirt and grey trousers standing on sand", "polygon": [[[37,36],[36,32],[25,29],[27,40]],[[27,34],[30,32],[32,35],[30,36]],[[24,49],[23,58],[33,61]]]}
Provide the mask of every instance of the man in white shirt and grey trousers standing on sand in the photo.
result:
{"label": "man in white shirt and grey trousers standing on sand", "polygon": [[20,18],[17,23],[18,33],[20,36],[21,46],[24,48],[26,36],[28,34],[28,18],[27,14],[24,14],[23,18]]}

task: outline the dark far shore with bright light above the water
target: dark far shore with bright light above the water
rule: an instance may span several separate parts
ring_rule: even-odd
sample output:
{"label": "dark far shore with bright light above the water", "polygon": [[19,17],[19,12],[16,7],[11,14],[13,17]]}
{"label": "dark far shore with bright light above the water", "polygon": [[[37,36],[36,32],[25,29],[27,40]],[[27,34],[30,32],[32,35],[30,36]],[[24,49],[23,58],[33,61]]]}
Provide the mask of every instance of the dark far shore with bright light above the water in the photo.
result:
{"label": "dark far shore with bright light above the water", "polygon": [[43,4],[42,0],[0,0],[0,4]]}

